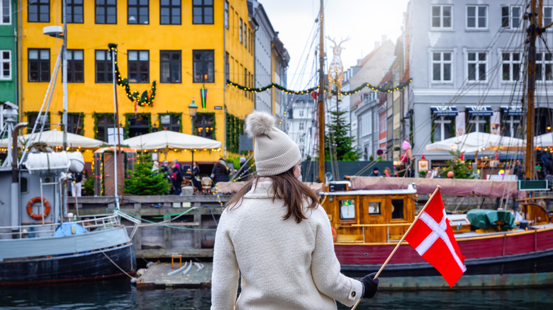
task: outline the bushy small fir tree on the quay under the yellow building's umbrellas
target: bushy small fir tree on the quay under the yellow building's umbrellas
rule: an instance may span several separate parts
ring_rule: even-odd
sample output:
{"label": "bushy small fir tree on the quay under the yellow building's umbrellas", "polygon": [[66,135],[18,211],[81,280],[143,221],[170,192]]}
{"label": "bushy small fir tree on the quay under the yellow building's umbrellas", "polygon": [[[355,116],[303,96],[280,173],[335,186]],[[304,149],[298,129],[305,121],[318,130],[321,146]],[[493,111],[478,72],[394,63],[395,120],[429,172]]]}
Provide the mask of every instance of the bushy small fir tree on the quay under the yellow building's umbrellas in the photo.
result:
{"label": "bushy small fir tree on the quay under the yellow building's umbrellas", "polygon": [[153,163],[148,154],[139,154],[135,170],[127,171],[125,193],[130,195],[165,195],[169,193],[166,173],[152,171]]}

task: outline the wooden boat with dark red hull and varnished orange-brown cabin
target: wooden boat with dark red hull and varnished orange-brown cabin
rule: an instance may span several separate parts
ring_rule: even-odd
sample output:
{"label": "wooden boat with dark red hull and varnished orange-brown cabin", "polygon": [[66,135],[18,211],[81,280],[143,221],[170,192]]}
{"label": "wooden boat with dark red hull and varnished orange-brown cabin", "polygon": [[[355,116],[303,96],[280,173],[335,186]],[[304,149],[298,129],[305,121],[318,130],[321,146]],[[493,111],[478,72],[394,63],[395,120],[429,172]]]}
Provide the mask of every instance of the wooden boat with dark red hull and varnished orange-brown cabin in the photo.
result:
{"label": "wooden boat with dark red hull and varnished orange-brown cabin", "polygon": [[[362,277],[379,270],[415,219],[414,185],[404,190],[350,190],[339,182],[319,193],[336,230],[335,253],[342,272]],[[449,218],[467,272],[454,287],[553,284],[553,224],[539,205],[523,205],[524,229],[470,230],[464,217]],[[525,221],[521,221],[525,223]],[[389,289],[449,288],[442,276],[403,242],[381,273]]]}

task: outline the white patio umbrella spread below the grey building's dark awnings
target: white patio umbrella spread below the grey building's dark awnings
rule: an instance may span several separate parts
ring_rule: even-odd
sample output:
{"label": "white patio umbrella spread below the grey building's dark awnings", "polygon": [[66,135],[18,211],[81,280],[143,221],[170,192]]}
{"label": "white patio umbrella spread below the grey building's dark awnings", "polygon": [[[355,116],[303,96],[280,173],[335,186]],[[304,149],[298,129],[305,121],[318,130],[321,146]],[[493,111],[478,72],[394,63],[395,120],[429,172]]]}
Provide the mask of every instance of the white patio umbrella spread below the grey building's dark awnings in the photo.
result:
{"label": "white patio umbrella spread below the grey building's dark awnings", "polygon": [[503,137],[486,132],[470,132],[457,137],[426,145],[427,151],[523,151],[526,142],[523,139]]}

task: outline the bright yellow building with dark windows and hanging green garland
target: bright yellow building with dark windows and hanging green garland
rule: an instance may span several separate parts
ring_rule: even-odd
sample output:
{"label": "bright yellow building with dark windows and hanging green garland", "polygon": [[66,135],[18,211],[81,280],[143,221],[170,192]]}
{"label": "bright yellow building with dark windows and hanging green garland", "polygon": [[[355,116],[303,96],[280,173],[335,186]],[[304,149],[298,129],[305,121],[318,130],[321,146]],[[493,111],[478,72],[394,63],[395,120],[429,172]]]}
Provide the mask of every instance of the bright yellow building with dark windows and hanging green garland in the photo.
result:
{"label": "bright yellow building with dark windows and hanging green garland", "polygon": [[[62,25],[62,0],[23,0],[21,9],[20,106],[32,128],[63,42],[43,35],[43,28]],[[138,106],[135,116],[135,102],[125,88],[116,88],[125,137],[156,127],[190,134],[188,107],[194,100],[199,106],[194,133],[223,142],[220,151],[198,151],[194,159],[207,163],[225,156],[225,149],[226,154],[238,151],[238,134],[254,97],[228,88],[226,80],[253,85],[253,29],[246,0],[67,1],[68,131],[106,142],[115,110],[109,43],[117,45],[118,69],[130,92],[147,91],[151,98],[155,89],[152,105]],[[61,72],[47,121],[52,129],[60,129]],[[90,151],[84,155],[91,161]],[[182,150],[169,151],[168,157],[191,160],[190,152]]]}

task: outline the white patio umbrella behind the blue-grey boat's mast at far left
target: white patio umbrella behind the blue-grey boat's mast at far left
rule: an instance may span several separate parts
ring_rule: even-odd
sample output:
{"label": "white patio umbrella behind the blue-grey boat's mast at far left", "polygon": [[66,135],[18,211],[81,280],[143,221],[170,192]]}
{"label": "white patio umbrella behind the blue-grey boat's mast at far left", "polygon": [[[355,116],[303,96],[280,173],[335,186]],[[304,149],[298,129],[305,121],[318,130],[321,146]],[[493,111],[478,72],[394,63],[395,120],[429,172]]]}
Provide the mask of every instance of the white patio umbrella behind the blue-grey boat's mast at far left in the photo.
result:
{"label": "white patio umbrella behind the blue-grey boat's mast at far left", "polygon": [[[40,136],[40,140],[38,139],[39,136]],[[30,134],[19,136],[18,144],[21,146],[25,144],[28,139],[30,139]],[[48,145],[48,147],[62,147],[63,132],[61,132],[60,130],[47,130],[47,131],[44,131],[42,134],[35,132],[35,134],[33,134],[33,140],[30,142],[30,144],[33,144],[35,142],[45,142]],[[97,139],[92,139],[89,137],[84,137],[80,134],[72,134],[67,132],[68,147],[94,149],[96,147],[100,147],[102,144],[106,144],[106,142],[103,142]],[[0,147],[7,147],[7,146],[8,146],[8,140],[1,139]]]}

